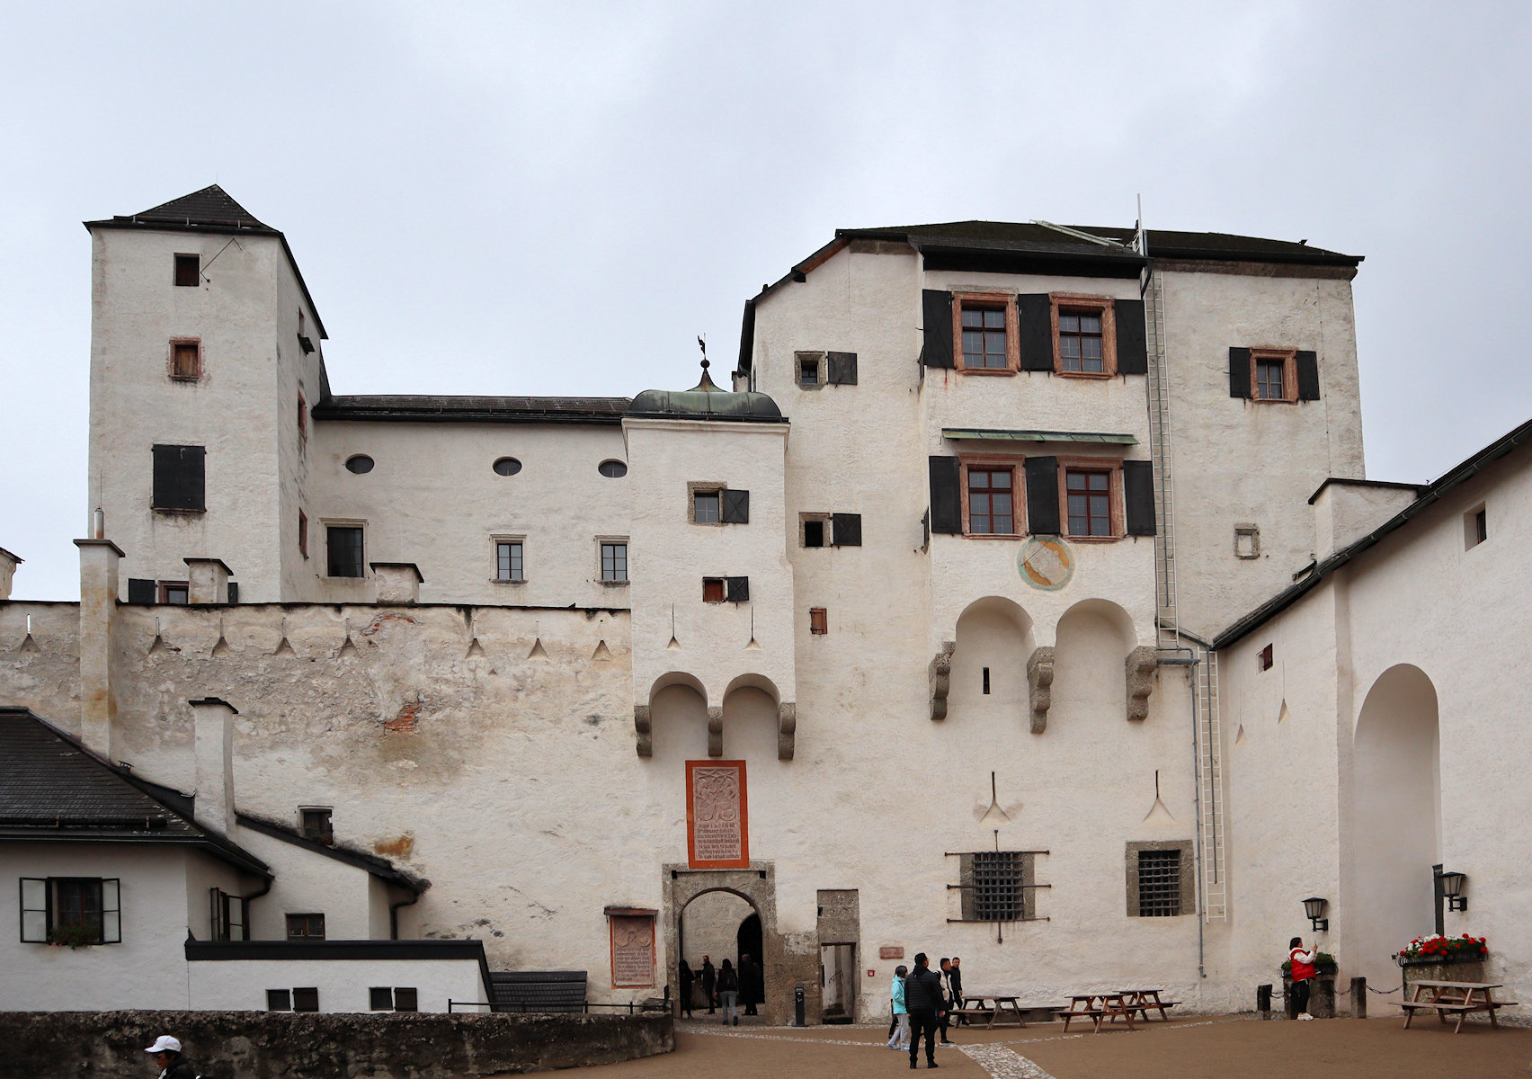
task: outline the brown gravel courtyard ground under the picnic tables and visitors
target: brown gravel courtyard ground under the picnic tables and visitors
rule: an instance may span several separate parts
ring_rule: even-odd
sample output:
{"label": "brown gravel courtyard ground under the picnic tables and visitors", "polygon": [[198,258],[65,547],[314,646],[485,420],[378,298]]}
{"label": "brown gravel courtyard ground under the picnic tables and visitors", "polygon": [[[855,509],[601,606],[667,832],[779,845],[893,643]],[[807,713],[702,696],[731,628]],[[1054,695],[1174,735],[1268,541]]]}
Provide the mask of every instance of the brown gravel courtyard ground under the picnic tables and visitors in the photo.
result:
{"label": "brown gravel courtyard ground under the picnic tables and visitors", "polygon": [[[676,1051],[645,1061],[578,1068],[581,1079],[864,1079],[908,1074],[908,1058],[884,1047],[884,1027],[731,1027],[682,1022]],[[1463,1033],[1399,1013],[1318,1022],[1253,1016],[1186,1018],[1063,1035],[1059,1024],[1025,1030],[953,1031],[938,1048],[947,1079],[1501,1079],[1532,1076],[1532,1030],[1474,1022]],[[921,1070],[925,1070],[924,1054]]]}

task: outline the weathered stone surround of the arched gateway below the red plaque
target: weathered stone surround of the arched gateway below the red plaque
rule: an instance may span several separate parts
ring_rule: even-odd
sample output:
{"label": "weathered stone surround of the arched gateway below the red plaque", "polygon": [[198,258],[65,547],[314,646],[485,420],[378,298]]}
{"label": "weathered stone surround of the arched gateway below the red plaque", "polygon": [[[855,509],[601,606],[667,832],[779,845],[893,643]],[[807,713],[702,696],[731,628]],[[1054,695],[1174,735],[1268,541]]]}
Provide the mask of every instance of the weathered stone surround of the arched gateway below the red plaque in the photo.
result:
{"label": "weathered stone surround of the arched gateway below the red plaque", "polygon": [[[754,907],[761,923],[761,969],[766,976],[764,1019],[780,1027],[792,1022],[794,987],[801,984],[807,996],[804,1015],[820,1015],[820,979],[817,956],[789,953],[786,940],[777,932],[777,872],[769,861],[751,861],[749,869],[691,869],[685,863],[662,866],[665,920],[666,981],[674,978],[680,961],[680,915],[686,904],[708,892],[729,892]],[[679,1013],[679,1001],[673,1001]]]}

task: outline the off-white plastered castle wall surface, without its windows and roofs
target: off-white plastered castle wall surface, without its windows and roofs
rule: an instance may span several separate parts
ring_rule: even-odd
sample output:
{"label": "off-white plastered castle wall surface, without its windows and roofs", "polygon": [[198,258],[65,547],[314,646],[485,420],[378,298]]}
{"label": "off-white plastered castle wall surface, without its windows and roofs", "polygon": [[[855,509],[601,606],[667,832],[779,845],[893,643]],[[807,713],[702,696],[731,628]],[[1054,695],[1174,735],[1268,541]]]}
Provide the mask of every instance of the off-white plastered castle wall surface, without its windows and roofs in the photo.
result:
{"label": "off-white plastered castle wall surface, without its windows and roofs", "polygon": [[[129,579],[185,578],[184,559],[218,558],[242,602],[116,605],[104,616],[104,674],[70,662],[83,639],[100,636],[93,607],[3,602],[0,703],[89,736],[80,717],[98,714],[90,702],[106,693],[115,756],[185,788],[195,720],[184,702],[228,700],[239,710],[234,808],[293,820],[299,806],[329,806],[339,841],[430,878],[418,903],[400,907],[401,936],[480,938],[496,970],[587,970],[593,1001],[625,1002],[659,995],[682,958],[665,944],[663,923],[689,917],[669,907],[676,881],[717,880],[743,898],[729,900],[735,910],[706,941],[679,933],[677,946],[691,949],[683,955],[694,969],[699,944],[729,955],[725,923],[737,926],[738,904],[754,906],[768,938],[766,1013],[781,1019],[794,982],[810,998],[818,992],[818,943],[832,932],[820,892],[855,889],[855,967],[875,972],[858,1015],[887,1007],[898,961],[876,956],[893,946],[905,956],[961,955],[970,989],[1033,1004],[1154,982],[1186,1010],[1213,1012],[1252,1004],[1255,986],[1275,979],[1287,936],[1302,930],[1299,900],[1325,895],[1342,973],[1386,981],[1376,967],[1382,930],[1351,927],[1367,924],[1360,910],[1376,903],[1367,880],[1382,877],[1357,869],[1357,849],[1377,837],[1356,838],[1365,828],[1342,734],[1393,664],[1420,665],[1442,700],[1458,690],[1439,667],[1408,658],[1425,641],[1442,647],[1442,598],[1458,595],[1437,585],[1445,570],[1411,567],[1402,587],[1396,566],[1408,544],[1399,555],[1379,549],[1377,569],[1342,570],[1347,635],[1334,628],[1339,585],[1327,578],[1230,648],[1218,788],[1227,917],[1204,917],[1196,889],[1180,917],[1138,917],[1131,881],[1140,848],[1181,849],[1180,872],[1206,883],[1193,671],[1155,664],[1155,538],[1123,535],[1124,463],[1152,457],[1146,376],[921,363],[922,291],[1059,293],[1132,310],[1138,268],[1124,253],[1102,271],[1082,270],[1077,251],[1063,268],[1034,259],[1002,271],[993,261],[950,268],[951,257],[921,244],[836,241],[752,300],[749,363],[735,386],[769,397],[786,421],[722,408],[639,414],[625,398],[611,408],[550,402],[541,418],[506,403],[513,398],[476,418],[463,402],[377,398],[392,414],[360,418],[360,398],[329,397],[317,316],[279,236],[241,238],[207,270],[210,282],[176,290],[170,256],[192,241],[208,254],[228,236],[95,234],[90,437],[101,492],[90,500],[124,552],[121,598]],[[1316,495],[1328,478],[1362,480],[1354,262],[1305,257],[1158,265],[1180,621],[1203,638],[1416,494],[1330,483]],[[300,311],[313,354],[297,346]],[[205,380],[167,385],[152,353],[193,334],[208,343]],[[1232,397],[1232,348],[1314,353],[1318,398]],[[800,354],[820,353],[855,353],[855,382],[801,385]],[[299,392],[320,409],[306,435]],[[745,400],[719,397],[728,408]],[[964,431],[988,435],[953,437]],[[155,443],[207,448],[202,513],[149,507]],[[357,454],[372,458],[372,471],[346,469]],[[1118,484],[1114,536],[1065,538],[1072,576],[1060,587],[1034,587],[1019,572],[1031,540],[1020,529],[928,532],[931,458],[1014,466],[1019,483],[1025,460],[1040,455],[1111,471]],[[498,475],[501,457],[521,469]],[[602,475],[602,461],[627,474]],[[748,490],[748,523],[694,521],[699,487]],[[1020,486],[1016,495],[1020,517]],[[1455,512],[1440,509],[1440,529],[1446,535],[1455,520],[1462,544]],[[804,518],[833,513],[859,515],[859,543],[806,546]],[[418,567],[418,602],[375,602],[371,572],[328,576],[331,523],[365,527],[366,562]],[[1258,556],[1239,556],[1236,526],[1258,529]],[[1425,535],[1420,521],[1411,527]],[[1497,536],[1501,527],[1509,535],[1523,523],[1497,517]],[[524,543],[522,582],[493,579],[498,540]],[[627,544],[627,582],[602,581],[602,543]],[[1497,566],[1509,573],[1512,562]],[[748,578],[748,601],[705,598],[705,578],[735,576]],[[1501,581],[1495,595],[1509,599],[1514,589]],[[1376,612],[1363,618],[1376,618],[1376,635],[1356,628],[1363,607]],[[1426,635],[1429,607],[1437,616]],[[810,630],[815,610],[826,633]],[[1448,621],[1475,618],[1472,605],[1452,610],[1460,613]],[[28,616],[32,645],[23,647]],[[1511,610],[1504,618],[1524,624]],[[1258,681],[1246,653],[1278,631],[1284,659]],[[1342,636],[1351,659],[1337,653]],[[1488,647],[1465,645],[1454,677],[1481,674],[1474,656]],[[1051,682],[1030,677],[1030,664]],[[1278,723],[1284,700],[1288,719]],[[933,719],[938,702],[942,719]],[[1463,745],[1501,737],[1485,720],[1455,722],[1443,705],[1443,745],[1449,733]],[[685,869],[685,765],[715,757],[746,763],[752,861],[712,878]],[[1498,749],[1489,757],[1503,759]],[[1443,792],[1458,785],[1454,797],[1472,782],[1442,774]],[[1295,789],[1304,791],[1301,811]],[[1518,895],[1511,881],[1521,871],[1495,846],[1489,822],[1492,814],[1465,826],[1483,860],[1449,867],[1504,880],[1506,895]],[[388,907],[403,895],[377,878],[248,829],[233,838],[276,874],[251,907],[254,936],[280,935],[282,913],[316,904],[326,917],[345,910],[332,936],[342,926],[345,935],[388,933]],[[958,855],[993,851],[1030,852],[1030,920],[964,920]],[[1422,845],[1400,857],[1428,854]],[[610,989],[610,906],[660,910],[654,987]],[[1337,913],[1342,906],[1353,913]],[[1403,924],[1405,913],[1390,918]],[[1507,964],[1532,958],[1509,926],[1495,933]],[[833,940],[847,940],[844,926]]]}

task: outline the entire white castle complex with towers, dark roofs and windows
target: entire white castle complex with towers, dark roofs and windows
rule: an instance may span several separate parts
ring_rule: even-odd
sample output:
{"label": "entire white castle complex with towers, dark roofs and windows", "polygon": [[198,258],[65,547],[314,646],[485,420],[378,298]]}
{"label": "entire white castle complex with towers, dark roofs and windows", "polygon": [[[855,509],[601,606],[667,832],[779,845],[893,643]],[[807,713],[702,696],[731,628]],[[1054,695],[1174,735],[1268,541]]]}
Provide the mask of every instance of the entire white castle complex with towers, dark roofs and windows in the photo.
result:
{"label": "entire white castle complex with towers, dark roofs and windows", "polygon": [[354,397],[221,189],[87,228],[80,604],[0,553],[0,1007],[752,950],[817,1021],[925,950],[1221,1012],[1305,898],[1342,978],[1445,918],[1532,992],[1526,429],[1365,478],[1359,257],[841,230],[728,389]]}

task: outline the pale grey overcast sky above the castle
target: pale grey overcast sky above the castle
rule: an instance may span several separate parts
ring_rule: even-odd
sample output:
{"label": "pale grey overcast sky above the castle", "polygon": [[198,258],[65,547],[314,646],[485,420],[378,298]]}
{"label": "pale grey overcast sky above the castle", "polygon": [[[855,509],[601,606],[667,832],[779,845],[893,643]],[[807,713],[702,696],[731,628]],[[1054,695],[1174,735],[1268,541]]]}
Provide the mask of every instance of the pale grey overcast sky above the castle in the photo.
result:
{"label": "pale grey overcast sky above the castle", "polygon": [[685,388],[836,227],[1308,239],[1354,282],[1368,475],[1532,415],[1532,5],[100,3],[0,37],[0,547],[78,596],[90,247],[221,184],[337,392]]}

